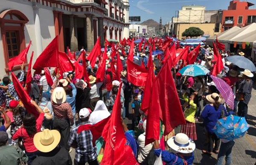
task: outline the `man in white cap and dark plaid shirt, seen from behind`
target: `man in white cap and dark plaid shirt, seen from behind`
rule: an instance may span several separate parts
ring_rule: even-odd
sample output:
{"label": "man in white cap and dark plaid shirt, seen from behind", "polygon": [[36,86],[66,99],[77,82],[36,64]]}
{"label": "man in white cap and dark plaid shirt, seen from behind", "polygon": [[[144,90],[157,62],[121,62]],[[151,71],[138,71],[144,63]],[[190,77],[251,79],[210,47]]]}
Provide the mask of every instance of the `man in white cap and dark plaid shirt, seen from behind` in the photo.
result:
{"label": "man in white cap and dark plaid shirt, seen from behind", "polygon": [[[89,123],[90,111],[87,108],[83,108],[79,112],[79,118],[81,120],[80,125]],[[68,145],[76,148],[76,155],[74,159],[75,165],[84,165],[86,162],[89,165],[98,165],[97,162],[97,149],[93,147],[93,135],[90,130],[77,133],[79,126],[74,128],[70,133]]]}

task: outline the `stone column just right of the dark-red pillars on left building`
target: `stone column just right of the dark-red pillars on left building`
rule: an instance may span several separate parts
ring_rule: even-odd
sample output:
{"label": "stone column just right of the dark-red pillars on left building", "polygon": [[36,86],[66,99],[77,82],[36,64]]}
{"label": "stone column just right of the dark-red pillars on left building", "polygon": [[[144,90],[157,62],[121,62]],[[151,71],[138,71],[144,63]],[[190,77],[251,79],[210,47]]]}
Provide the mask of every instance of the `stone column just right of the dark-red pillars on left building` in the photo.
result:
{"label": "stone column just right of the dark-red pillars on left building", "polygon": [[70,50],[78,50],[76,17],[70,15]]}

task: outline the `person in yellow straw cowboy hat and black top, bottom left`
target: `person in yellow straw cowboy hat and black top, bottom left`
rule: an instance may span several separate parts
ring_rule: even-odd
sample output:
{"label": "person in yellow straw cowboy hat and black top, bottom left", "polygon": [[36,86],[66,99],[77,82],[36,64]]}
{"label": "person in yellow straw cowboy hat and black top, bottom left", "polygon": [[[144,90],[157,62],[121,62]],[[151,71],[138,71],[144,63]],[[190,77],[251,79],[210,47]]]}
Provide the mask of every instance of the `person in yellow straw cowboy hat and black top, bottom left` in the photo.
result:
{"label": "person in yellow straw cowboy hat and black top, bottom left", "polygon": [[72,165],[68,151],[59,147],[61,134],[57,130],[45,129],[35,134],[33,142],[41,153],[32,162],[32,165]]}

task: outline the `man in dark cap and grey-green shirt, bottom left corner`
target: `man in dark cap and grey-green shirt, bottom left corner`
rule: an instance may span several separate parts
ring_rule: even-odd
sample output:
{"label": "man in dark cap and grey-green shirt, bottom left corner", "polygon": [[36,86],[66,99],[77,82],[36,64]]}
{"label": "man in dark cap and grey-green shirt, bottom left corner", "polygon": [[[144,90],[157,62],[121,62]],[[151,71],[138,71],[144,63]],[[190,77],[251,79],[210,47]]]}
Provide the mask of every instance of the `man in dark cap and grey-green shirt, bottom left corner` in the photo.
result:
{"label": "man in dark cap and grey-green shirt, bottom left corner", "polygon": [[28,157],[20,148],[8,145],[8,134],[0,131],[0,164],[19,165],[19,159],[24,163],[28,161]]}

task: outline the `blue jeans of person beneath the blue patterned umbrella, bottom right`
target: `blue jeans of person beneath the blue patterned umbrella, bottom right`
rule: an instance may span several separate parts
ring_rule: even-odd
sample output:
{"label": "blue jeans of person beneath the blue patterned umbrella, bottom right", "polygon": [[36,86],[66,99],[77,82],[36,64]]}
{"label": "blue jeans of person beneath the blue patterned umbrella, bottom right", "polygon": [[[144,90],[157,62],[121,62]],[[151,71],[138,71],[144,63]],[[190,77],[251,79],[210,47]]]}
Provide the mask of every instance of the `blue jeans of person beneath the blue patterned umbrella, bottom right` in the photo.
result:
{"label": "blue jeans of person beneath the blue patterned umbrella, bottom right", "polygon": [[231,165],[232,162],[232,148],[235,145],[235,142],[221,142],[220,151],[218,154],[218,160],[216,165],[222,165],[224,157],[226,156],[226,165]]}

